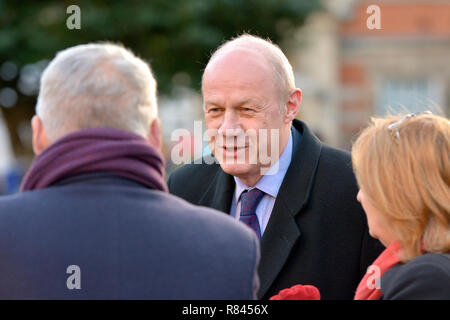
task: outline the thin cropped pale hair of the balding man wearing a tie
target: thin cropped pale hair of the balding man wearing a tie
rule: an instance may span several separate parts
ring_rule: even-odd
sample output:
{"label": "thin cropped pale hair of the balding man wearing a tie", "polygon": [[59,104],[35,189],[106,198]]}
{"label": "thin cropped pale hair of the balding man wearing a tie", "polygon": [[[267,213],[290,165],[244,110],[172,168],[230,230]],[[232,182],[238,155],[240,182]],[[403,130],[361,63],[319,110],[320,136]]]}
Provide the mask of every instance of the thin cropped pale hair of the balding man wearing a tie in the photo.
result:
{"label": "thin cropped pale hair of the balding man wearing a tie", "polygon": [[280,90],[280,107],[283,107],[292,89],[295,88],[295,77],[292,65],[279,46],[270,39],[263,39],[250,34],[242,34],[220,45],[211,55],[208,65],[222,54],[234,49],[243,48],[261,54],[265,57],[275,74]]}

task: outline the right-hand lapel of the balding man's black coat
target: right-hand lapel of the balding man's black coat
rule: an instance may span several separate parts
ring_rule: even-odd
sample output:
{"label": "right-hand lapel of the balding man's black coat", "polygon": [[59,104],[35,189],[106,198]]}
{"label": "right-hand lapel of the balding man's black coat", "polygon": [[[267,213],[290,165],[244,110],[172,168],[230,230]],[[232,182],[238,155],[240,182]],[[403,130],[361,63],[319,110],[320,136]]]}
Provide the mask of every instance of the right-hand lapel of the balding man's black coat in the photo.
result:
{"label": "right-hand lapel of the balding man's black coat", "polygon": [[300,237],[295,216],[309,198],[322,148],[321,142],[303,122],[294,120],[293,126],[291,164],[261,239],[259,298],[269,290]]}

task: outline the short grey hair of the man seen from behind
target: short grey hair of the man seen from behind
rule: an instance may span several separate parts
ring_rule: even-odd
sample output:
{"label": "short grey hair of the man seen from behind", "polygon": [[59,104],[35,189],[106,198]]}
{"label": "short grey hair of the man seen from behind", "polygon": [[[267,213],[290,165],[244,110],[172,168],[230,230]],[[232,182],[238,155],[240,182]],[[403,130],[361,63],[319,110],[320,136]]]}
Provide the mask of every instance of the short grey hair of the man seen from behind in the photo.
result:
{"label": "short grey hair of the man seen from behind", "polygon": [[114,128],[147,137],[157,117],[149,65],[112,43],[60,51],[42,74],[36,113],[50,141],[87,128]]}

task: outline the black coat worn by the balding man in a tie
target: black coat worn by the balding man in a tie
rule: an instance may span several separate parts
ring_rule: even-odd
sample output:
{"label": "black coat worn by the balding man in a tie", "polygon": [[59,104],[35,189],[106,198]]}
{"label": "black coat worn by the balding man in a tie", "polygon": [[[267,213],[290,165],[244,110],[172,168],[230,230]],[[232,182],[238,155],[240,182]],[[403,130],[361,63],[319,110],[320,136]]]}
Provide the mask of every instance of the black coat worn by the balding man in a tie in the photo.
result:
{"label": "black coat worn by the balding man in a tie", "polygon": [[[258,296],[312,284],[323,299],[352,299],[383,246],[368,234],[349,153],[321,143],[299,120],[293,127],[292,161],[261,239]],[[185,165],[168,185],[194,204],[230,211],[235,182],[218,164]]]}

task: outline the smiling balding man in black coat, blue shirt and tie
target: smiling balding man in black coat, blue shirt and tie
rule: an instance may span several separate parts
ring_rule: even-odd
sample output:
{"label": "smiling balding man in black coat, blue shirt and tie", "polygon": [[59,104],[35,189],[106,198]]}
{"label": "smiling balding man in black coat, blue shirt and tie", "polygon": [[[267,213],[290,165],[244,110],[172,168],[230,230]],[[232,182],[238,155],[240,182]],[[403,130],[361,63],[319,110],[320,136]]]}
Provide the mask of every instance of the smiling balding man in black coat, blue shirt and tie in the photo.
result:
{"label": "smiling balding man in black coat, blue shirt and tie", "polygon": [[356,201],[349,153],[295,119],[302,93],[283,52],[251,35],[226,42],[205,68],[202,93],[213,155],[176,170],[170,192],[261,238],[259,298],[304,284],[323,299],[352,299],[383,248]]}

